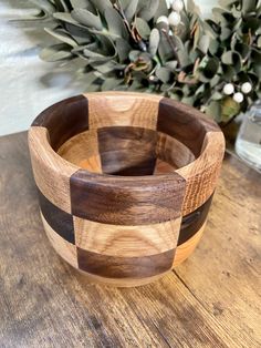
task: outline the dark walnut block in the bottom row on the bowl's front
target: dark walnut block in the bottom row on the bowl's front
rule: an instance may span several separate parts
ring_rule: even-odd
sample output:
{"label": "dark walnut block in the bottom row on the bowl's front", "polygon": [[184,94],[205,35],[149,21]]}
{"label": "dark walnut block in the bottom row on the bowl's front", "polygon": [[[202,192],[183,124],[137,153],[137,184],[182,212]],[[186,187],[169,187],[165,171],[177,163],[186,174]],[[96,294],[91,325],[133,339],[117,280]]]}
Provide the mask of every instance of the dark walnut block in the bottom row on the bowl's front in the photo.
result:
{"label": "dark walnut block in the bottom row on the bowl's front", "polygon": [[171,269],[175,249],[143,257],[115,257],[77,247],[79,268],[106,278],[144,278]]}

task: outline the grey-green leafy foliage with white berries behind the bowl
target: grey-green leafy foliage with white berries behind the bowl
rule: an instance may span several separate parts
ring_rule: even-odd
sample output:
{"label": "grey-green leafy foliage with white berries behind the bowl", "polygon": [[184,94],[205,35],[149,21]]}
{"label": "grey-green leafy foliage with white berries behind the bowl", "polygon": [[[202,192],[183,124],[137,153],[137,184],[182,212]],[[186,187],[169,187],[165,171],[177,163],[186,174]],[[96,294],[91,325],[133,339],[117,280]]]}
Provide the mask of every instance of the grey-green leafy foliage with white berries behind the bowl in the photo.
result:
{"label": "grey-green leafy foliage with white berries behind the bowl", "polygon": [[227,123],[261,95],[261,1],[32,0],[59,42],[43,60],[75,63],[86,91],[160,93]]}

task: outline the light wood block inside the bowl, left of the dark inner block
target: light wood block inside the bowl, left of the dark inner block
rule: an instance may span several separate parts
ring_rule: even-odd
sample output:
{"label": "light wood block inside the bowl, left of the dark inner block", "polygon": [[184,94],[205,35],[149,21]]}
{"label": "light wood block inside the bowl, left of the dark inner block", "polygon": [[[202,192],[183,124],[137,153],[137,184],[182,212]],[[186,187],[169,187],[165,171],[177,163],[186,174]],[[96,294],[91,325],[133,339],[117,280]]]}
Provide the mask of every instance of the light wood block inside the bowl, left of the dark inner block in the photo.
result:
{"label": "light wood block inside the bowl, left of the dark inner block", "polygon": [[96,130],[71,137],[59,149],[58,154],[81,168],[102,173]]}

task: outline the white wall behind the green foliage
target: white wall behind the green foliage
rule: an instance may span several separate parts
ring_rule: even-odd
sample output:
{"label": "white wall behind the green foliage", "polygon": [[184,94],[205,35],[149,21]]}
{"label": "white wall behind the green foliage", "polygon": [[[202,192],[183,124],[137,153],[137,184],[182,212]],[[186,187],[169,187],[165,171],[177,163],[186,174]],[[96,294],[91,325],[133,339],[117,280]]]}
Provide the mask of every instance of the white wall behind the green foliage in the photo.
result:
{"label": "white wall behind the green foliage", "polygon": [[[9,22],[32,12],[21,10],[29,1],[0,1],[0,135],[3,135],[27,130],[43,109],[85,89],[84,82],[74,81],[70,71],[38,58],[39,43],[50,40],[43,30],[31,32]],[[208,16],[217,0],[197,3]]]}

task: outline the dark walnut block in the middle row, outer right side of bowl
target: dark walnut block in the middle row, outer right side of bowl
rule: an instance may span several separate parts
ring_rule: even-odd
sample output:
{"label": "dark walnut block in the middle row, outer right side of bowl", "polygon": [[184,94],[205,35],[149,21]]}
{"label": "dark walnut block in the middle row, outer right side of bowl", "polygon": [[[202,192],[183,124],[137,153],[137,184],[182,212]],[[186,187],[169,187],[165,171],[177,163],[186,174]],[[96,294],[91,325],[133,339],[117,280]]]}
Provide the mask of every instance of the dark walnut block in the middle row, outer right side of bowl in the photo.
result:
{"label": "dark walnut block in the middle row, outer right side of bowl", "polygon": [[207,219],[212,197],[213,194],[200,207],[182,217],[178,245],[187,242],[202,227]]}

